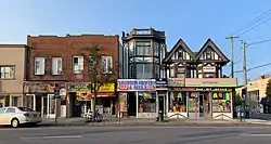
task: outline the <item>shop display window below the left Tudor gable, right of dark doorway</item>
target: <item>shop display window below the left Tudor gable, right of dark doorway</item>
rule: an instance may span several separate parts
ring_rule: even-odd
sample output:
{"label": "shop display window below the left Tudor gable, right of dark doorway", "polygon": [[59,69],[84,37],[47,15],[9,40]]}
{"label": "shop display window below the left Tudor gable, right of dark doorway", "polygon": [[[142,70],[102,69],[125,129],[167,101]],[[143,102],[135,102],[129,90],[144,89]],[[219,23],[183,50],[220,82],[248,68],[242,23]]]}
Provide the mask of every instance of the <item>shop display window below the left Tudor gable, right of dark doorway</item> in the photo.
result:
{"label": "shop display window below the left Tudor gable, right of dark doorway", "polygon": [[169,97],[170,113],[186,113],[186,92],[172,92]]}

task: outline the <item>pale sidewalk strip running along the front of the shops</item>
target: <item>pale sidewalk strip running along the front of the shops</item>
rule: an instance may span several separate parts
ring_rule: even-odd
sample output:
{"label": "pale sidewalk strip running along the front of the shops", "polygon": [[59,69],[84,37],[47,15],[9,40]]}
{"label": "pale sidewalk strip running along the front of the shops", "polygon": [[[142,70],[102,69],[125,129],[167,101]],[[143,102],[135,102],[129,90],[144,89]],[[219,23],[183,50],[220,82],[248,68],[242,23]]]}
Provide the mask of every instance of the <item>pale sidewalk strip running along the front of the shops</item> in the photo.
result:
{"label": "pale sidewalk strip running along the front of the shops", "polygon": [[262,126],[271,121],[263,121],[260,119],[246,119],[246,121],[231,120],[191,120],[191,119],[165,119],[164,122],[157,122],[154,118],[121,118],[120,121],[117,118],[106,118],[102,122],[86,122],[83,118],[59,118],[57,122],[54,119],[44,119],[41,126],[115,126],[115,127],[139,127],[139,126],[210,126],[210,127],[229,127],[229,126]]}

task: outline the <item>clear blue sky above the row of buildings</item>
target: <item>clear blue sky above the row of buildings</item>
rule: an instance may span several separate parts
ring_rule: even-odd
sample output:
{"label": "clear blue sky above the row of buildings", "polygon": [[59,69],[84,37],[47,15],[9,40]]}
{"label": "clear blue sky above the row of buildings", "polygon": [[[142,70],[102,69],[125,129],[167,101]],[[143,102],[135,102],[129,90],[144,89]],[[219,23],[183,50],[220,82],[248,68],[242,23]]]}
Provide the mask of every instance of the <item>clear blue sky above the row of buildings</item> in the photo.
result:
{"label": "clear blue sky above the row of buildings", "polygon": [[[241,70],[241,40],[249,44],[271,39],[271,14],[249,24],[270,5],[270,0],[1,0],[0,43],[25,44],[27,35],[121,36],[132,28],[153,27],[166,31],[168,50],[182,38],[198,51],[211,38],[231,58],[225,37],[234,35],[241,36],[234,41],[234,69]],[[270,63],[270,45],[271,41],[249,45],[247,67]],[[230,64],[224,73],[230,74]],[[271,65],[248,71],[248,79],[263,74],[271,74]],[[242,73],[235,76],[241,83]]]}

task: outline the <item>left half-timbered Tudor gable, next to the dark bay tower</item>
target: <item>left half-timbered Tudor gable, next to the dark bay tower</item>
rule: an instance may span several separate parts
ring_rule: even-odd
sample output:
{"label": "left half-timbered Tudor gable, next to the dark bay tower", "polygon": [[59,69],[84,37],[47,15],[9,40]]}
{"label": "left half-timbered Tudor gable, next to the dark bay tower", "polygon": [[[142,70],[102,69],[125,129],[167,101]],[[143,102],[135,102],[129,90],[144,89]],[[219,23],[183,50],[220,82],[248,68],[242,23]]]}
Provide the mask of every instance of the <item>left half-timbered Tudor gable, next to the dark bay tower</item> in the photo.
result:
{"label": "left half-timbered Tudor gable, next to the dark bay tower", "polygon": [[194,53],[182,39],[179,39],[164,61],[168,68],[168,77],[193,78],[196,71],[194,60]]}

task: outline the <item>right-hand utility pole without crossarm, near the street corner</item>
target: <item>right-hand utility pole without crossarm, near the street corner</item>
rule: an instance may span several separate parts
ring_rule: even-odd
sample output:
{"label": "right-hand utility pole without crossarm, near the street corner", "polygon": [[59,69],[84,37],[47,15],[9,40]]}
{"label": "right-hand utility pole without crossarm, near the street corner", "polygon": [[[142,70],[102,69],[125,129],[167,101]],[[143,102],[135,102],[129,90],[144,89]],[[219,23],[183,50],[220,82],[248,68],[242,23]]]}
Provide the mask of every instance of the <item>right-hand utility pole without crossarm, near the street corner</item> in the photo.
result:
{"label": "right-hand utility pole without crossarm, near the street corner", "polygon": [[[242,41],[243,44],[243,74],[244,74],[244,90],[245,90],[245,105],[247,103],[247,69],[246,69],[246,47],[247,43]],[[249,104],[250,102],[248,102]]]}

